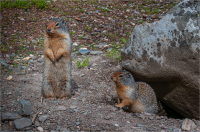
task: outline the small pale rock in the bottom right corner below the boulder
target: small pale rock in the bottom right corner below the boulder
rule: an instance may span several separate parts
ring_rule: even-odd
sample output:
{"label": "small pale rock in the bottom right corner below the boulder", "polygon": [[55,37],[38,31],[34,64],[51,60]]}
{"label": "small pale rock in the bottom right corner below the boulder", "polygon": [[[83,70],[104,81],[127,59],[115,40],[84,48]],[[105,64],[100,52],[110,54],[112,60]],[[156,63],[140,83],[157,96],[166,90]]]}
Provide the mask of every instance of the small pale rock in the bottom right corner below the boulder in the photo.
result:
{"label": "small pale rock in the bottom right corner below the boulder", "polygon": [[196,128],[195,123],[190,119],[183,120],[181,129],[184,131],[191,131],[192,129]]}

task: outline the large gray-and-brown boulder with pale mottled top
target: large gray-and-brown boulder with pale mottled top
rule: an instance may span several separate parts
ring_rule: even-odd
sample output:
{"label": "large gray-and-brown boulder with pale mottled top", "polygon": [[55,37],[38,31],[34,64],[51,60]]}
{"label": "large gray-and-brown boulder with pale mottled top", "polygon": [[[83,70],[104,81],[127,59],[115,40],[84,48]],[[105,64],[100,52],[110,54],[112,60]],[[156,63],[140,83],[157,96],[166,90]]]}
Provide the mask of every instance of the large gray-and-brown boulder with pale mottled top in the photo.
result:
{"label": "large gray-and-brown boulder with pale mottled top", "polygon": [[200,2],[184,0],[165,17],[134,28],[122,48],[122,67],[149,83],[157,97],[199,119]]}

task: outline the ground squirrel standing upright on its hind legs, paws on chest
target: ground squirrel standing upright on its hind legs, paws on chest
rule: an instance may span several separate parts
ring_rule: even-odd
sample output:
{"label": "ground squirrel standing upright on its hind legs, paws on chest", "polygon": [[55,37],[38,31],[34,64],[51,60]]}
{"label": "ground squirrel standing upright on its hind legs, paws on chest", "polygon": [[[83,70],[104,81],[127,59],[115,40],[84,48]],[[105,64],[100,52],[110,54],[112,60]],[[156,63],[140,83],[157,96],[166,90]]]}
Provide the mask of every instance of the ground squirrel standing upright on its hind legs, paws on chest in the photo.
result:
{"label": "ground squirrel standing upright on its hind legs, paws on chest", "polygon": [[44,40],[42,95],[45,98],[71,96],[71,39],[64,20],[47,20]]}

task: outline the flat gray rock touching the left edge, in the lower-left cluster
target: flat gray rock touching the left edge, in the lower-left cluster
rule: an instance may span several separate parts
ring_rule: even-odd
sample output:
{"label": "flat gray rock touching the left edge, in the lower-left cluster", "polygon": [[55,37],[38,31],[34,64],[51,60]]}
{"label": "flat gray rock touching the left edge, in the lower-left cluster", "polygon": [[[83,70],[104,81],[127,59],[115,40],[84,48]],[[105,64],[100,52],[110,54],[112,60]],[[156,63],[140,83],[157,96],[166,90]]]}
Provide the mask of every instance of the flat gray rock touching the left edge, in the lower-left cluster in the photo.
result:
{"label": "flat gray rock touching the left edge, in the lower-left cluster", "polygon": [[1,114],[1,120],[15,120],[15,119],[20,119],[21,115],[19,115],[18,113],[14,113],[14,112],[4,112]]}

